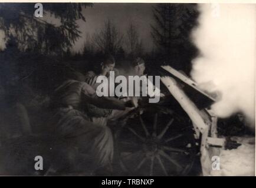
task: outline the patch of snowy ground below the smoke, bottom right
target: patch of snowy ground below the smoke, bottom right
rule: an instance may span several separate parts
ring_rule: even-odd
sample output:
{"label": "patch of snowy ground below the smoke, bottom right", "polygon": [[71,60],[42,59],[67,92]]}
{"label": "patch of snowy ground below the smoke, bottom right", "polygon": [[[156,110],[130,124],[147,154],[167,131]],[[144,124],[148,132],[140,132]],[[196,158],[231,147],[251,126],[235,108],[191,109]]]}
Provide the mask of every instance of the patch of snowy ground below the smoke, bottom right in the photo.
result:
{"label": "patch of snowy ground below the smoke, bottom right", "polygon": [[212,170],[212,176],[255,176],[255,137],[231,137],[242,145],[237,149],[223,150],[221,170]]}

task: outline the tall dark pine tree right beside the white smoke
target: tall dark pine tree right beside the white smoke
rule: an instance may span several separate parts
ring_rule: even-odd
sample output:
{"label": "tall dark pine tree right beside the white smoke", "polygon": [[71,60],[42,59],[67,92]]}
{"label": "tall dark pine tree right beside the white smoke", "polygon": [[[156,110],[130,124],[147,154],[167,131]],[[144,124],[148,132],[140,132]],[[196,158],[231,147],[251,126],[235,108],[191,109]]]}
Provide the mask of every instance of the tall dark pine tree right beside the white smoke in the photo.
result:
{"label": "tall dark pine tree right beside the white smoke", "polygon": [[163,57],[161,61],[188,73],[190,61],[197,52],[190,39],[199,15],[197,5],[158,4],[153,15],[152,36]]}

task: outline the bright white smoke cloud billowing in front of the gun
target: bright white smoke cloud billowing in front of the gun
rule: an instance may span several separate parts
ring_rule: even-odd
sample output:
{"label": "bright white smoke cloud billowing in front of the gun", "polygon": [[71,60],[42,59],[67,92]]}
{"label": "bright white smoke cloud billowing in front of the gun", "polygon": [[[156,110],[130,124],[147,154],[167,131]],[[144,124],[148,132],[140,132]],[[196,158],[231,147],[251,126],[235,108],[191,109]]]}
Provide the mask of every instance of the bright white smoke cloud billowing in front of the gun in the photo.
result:
{"label": "bright white smoke cloud billowing in front of the gun", "polygon": [[242,112],[255,126],[255,5],[201,4],[199,26],[192,33],[200,55],[192,78],[208,92],[218,92],[211,108],[219,117]]}

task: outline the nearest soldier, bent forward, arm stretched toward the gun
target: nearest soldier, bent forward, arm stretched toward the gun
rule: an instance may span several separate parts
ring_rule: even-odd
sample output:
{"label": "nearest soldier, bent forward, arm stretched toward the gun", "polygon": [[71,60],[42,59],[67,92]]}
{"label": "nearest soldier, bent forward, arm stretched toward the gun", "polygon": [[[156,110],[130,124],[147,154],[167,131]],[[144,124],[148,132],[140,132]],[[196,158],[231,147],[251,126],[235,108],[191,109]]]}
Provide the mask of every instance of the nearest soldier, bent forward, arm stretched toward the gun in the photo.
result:
{"label": "nearest soldier, bent forward, arm stretched toward the gun", "polygon": [[67,145],[91,156],[96,168],[107,166],[113,159],[113,138],[109,127],[91,122],[88,109],[93,105],[99,109],[124,110],[132,103],[97,97],[96,91],[83,80],[66,80],[55,89],[52,130]]}

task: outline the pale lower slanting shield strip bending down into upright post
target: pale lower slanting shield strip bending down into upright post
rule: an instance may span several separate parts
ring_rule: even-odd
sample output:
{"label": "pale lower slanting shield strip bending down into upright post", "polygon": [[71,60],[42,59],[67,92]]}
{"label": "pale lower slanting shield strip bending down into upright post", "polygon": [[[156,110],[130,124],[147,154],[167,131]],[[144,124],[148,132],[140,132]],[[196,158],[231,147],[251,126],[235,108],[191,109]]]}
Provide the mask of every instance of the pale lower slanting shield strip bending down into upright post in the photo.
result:
{"label": "pale lower slanting shield strip bending down into upright post", "polygon": [[165,76],[160,78],[163,84],[168,88],[169,92],[179,102],[180,106],[185,110],[193,122],[196,135],[201,133],[201,166],[204,176],[211,176],[212,173],[212,157],[220,156],[222,147],[209,147],[209,143],[214,145],[222,145],[223,139],[210,138],[209,130],[211,130],[211,118],[206,110],[199,110],[195,103],[186,96],[185,92],[180,88],[179,83],[175,79]]}

